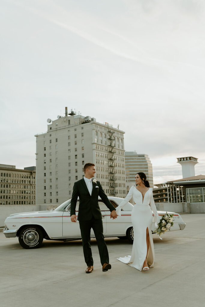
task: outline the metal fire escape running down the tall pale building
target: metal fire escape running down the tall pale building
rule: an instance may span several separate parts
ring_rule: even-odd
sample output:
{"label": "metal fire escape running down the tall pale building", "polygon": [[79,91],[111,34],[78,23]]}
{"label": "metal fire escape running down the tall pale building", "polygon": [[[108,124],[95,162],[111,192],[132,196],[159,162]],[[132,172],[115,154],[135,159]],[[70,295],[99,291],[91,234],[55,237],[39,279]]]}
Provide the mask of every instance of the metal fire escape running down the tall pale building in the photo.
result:
{"label": "metal fire escape running down the tall pale building", "polygon": [[114,138],[114,131],[108,129],[108,182],[109,182],[109,189],[110,189],[110,195],[115,196],[115,187],[117,180],[115,167],[116,167],[116,157],[114,154],[116,153],[115,147],[115,138]]}

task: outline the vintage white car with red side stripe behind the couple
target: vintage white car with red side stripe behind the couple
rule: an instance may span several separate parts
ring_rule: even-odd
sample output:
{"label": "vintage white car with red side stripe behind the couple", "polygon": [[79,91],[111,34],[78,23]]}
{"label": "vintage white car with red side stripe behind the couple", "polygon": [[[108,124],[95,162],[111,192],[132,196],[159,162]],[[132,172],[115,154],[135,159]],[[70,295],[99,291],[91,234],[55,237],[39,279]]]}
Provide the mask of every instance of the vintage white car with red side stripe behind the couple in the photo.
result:
{"label": "vintage white car with red side stripe behind the couple", "polygon": [[[123,198],[108,196],[109,200],[116,208]],[[6,238],[18,237],[22,247],[27,249],[38,248],[41,246],[43,239],[57,241],[71,241],[81,239],[79,222],[72,223],[70,220],[70,199],[59,205],[56,209],[50,211],[24,212],[15,213],[8,216],[5,220],[5,228],[3,230]],[[99,206],[101,208],[104,237],[118,237],[120,239],[127,238],[133,242],[133,227],[131,223],[131,212],[133,205],[128,203],[123,207],[121,216],[116,220],[110,219],[110,211],[99,198]],[[76,214],[78,212],[77,202]],[[183,230],[186,224],[183,222],[178,213],[174,214],[173,230]],[[165,214],[164,211],[158,211],[159,216]],[[154,214],[153,214],[154,216]],[[156,232],[155,223],[152,225],[152,232]],[[91,237],[95,235],[91,229]]]}

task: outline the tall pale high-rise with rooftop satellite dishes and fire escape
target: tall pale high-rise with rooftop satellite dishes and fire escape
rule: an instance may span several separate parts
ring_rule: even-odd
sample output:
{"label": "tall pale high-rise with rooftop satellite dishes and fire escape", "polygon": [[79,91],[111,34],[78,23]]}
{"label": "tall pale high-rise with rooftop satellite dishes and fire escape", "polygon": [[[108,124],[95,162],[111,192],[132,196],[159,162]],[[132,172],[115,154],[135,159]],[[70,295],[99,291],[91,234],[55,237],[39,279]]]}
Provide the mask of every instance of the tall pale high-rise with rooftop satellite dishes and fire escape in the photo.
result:
{"label": "tall pale high-rise with rooftop satellite dishes and fire escape", "polygon": [[71,198],[73,184],[84,176],[85,163],[96,165],[96,179],[108,196],[124,197],[124,131],[89,116],[47,120],[48,131],[36,134],[37,204]]}

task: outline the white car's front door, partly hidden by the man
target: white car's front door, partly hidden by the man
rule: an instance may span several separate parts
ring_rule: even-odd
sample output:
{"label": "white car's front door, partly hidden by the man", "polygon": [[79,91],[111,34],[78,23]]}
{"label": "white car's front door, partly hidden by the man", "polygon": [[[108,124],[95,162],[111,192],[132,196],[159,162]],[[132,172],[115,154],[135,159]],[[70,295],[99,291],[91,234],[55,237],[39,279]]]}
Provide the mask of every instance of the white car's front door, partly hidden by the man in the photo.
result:
{"label": "white car's front door, partly hidden by the man", "polygon": [[[78,214],[79,200],[76,204],[76,216]],[[63,212],[63,237],[69,239],[81,238],[81,231],[79,226],[79,221],[71,222],[70,220],[70,206],[66,208],[66,211]]]}

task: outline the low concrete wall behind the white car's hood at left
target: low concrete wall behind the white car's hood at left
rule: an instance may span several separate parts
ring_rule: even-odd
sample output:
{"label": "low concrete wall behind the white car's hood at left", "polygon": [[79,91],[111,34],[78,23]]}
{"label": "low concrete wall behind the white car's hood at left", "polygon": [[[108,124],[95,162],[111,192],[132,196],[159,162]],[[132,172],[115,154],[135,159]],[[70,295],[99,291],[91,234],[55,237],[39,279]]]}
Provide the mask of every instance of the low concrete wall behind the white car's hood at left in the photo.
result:
{"label": "low concrete wall behind the white car's hood at left", "polygon": [[43,211],[56,208],[57,205],[0,205],[0,227],[4,227],[6,216],[20,212]]}

